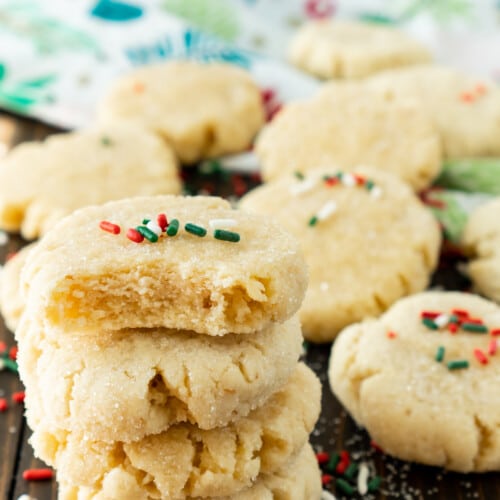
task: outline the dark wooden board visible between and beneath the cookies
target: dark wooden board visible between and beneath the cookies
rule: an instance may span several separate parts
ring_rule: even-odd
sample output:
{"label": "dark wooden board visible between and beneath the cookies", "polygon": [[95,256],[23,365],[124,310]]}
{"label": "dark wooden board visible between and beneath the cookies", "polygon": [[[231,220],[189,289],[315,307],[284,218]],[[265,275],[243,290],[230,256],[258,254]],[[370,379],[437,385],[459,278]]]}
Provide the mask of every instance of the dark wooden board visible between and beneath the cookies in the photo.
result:
{"label": "dark wooden board visible between and beneath the cookies", "polygon": [[[0,114],[0,142],[9,147],[25,140],[41,139],[53,132],[50,127],[42,124]],[[228,177],[224,173],[206,175],[196,170],[184,172],[185,180],[192,191],[200,188],[213,194],[224,196],[234,192],[243,181],[247,186],[257,182],[255,177]],[[6,246],[0,247],[0,262],[4,262],[9,252],[15,251],[23,242],[12,237]],[[455,267],[453,258],[443,260],[434,278],[435,284],[449,289],[463,288],[467,285]],[[0,340],[9,346],[14,344],[12,334],[0,322]],[[356,462],[365,461],[383,478],[380,491],[365,495],[365,499],[500,499],[500,473],[489,474],[454,474],[441,469],[424,467],[395,460],[376,451],[370,445],[369,436],[359,429],[352,419],[342,409],[328,387],[326,369],[330,345],[310,345],[305,354],[305,361],[320,377],[323,384],[322,413],[314,430],[311,441],[317,451],[329,453],[348,450]],[[23,419],[22,405],[10,402],[11,394],[22,390],[22,385],[15,374],[0,372],[0,391],[9,399],[9,409],[0,413],[0,499],[17,499],[22,494],[28,494],[37,500],[55,500],[57,485],[55,480],[29,483],[22,478],[24,470],[40,467],[43,464],[33,457],[28,444],[30,430]],[[460,436],[457,436],[460,439]],[[334,480],[328,485],[330,491],[335,491]],[[337,498],[346,498],[335,494]],[[361,498],[354,495],[351,498]],[[299,500],[299,499],[298,499]]]}

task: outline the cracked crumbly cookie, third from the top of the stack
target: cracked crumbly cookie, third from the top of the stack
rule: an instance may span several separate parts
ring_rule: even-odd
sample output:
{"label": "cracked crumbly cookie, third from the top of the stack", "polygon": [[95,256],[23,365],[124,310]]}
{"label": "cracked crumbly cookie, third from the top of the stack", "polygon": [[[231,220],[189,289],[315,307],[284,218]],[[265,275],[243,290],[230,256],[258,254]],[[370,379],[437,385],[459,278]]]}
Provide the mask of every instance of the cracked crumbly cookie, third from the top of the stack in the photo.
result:
{"label": "cracked crumbly cookie, third from the top of the stack", "polygon": [[153,498],[232,496],[303,448],[318,418],[320,397],[319,380],[298,364],[283,389],[227,427],[203,431],[177,424],[140,441],[104,443],[40,421],[31,444],[69,483],[98,488],[114,469],[122,469],[140,478]]}

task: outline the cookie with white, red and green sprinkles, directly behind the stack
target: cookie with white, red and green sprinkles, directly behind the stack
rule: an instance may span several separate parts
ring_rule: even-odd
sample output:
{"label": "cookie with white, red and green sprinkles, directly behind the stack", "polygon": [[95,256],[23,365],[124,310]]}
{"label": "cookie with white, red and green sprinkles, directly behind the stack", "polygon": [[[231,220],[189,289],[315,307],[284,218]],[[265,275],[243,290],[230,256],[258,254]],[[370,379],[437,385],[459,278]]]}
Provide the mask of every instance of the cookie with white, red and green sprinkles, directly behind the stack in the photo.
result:
{"label": "cookie with white, red and green sprinkles, directly behind the stack", "polygon": [[288,175],[248,193],[240,208],[273,217],[299,241],[309,269],[300,319],[314,342],[423,290],[436,267],[437,222],[406,184],[380,170]]}

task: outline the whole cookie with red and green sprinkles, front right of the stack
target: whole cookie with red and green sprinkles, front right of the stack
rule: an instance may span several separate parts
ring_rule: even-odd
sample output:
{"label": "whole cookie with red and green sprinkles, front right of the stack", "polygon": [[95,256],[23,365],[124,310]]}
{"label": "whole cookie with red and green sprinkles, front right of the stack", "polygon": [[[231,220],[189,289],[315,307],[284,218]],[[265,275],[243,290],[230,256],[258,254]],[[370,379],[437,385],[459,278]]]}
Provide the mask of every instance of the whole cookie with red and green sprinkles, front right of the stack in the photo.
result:
{"label": "whole cookie with red and green sprinkles, front right of the stack", "polygon": [[499,333],[492,302],[414,295],[341,332],[330,384],[387,453],[460,472],[498,471]]}

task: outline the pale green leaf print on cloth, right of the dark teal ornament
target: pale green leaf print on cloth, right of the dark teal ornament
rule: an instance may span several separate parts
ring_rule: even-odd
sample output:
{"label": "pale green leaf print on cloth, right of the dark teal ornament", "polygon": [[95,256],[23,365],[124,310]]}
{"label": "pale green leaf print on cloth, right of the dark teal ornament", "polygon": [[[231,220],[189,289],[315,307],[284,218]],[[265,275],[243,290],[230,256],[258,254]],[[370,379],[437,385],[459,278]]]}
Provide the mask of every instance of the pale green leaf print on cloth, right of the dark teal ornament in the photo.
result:
{"label": "pale green leaf print on cloth, right of the dark teal ornament", "polygon": [[162,6],[191,24],[226,41],[239,34],[239,19],[232,0],[163,0]]}

